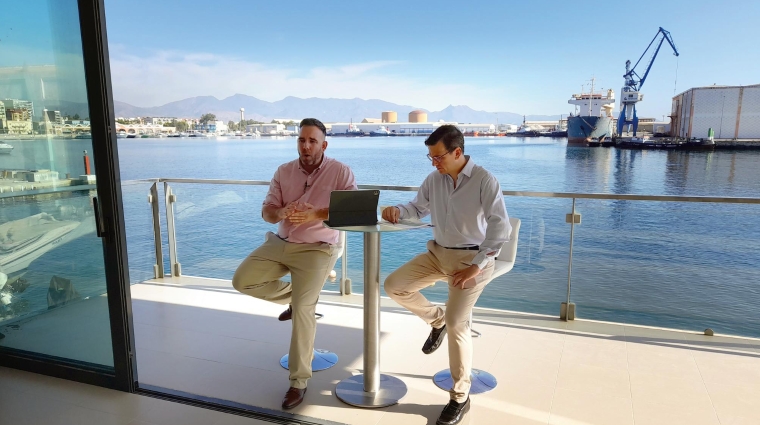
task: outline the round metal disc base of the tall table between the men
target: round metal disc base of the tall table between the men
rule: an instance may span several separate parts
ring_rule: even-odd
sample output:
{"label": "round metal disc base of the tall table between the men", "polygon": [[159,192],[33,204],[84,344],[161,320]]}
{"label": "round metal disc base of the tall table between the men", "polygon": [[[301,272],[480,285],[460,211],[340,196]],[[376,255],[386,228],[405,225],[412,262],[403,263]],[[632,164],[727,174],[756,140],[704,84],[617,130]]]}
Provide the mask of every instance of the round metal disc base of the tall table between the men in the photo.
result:
{"label": "round metal disc base of the tall table between the men", "polygon": [[380,389],[377,392],[364,391],[364,376],[356,375],[344,379],[335,388],[335,395],[352,406],[386,407],[398,403],[406,395],[404,381],[390,375],[380,375]]}

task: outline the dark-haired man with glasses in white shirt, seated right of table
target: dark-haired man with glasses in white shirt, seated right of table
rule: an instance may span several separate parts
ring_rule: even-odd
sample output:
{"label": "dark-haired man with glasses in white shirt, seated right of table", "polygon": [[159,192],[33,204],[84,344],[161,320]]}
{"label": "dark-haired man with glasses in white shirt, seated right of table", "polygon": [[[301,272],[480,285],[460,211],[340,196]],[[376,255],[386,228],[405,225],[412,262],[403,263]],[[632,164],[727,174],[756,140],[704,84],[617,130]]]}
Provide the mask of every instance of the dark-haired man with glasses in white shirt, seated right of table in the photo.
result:
{"label": "dark-haired man with glasses in white shirt, seated right of table", "polygon": [[[435,351],[449,334],[449,368],[454,386],[449,404],[436,422],[458,424],[470,408],[472,307],[491,280],[494,258],[512,232],[499,182],[464,154],[464,136],[453,125],[438,127],[425,140],[428,159],[437,171],[422,182],[405,205],[383,210],[392,223],[431,215],[435,240],[385,280],[385,292],[432,326],[422,347]],[[446,310],[431,304],[420,290],[447,280]]]}

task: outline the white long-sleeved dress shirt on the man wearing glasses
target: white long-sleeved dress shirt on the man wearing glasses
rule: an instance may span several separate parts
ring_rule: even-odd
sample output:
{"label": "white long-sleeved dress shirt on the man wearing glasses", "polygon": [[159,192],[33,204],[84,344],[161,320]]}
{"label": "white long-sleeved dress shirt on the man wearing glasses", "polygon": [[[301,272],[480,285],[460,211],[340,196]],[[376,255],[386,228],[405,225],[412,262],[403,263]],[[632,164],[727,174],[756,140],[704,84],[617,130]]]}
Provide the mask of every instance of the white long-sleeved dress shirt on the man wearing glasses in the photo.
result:
{"label": "white long-sleeved dress shirt on the man wearing glasses", "polygon": [[471,264],[483,269],[509,241],[512,226],[499,182],[469,155],[457,185],[448,174],[433,171],[412,202],[397,205],[401,219],[431,215],[435,242],[446,248],[479,246]]}

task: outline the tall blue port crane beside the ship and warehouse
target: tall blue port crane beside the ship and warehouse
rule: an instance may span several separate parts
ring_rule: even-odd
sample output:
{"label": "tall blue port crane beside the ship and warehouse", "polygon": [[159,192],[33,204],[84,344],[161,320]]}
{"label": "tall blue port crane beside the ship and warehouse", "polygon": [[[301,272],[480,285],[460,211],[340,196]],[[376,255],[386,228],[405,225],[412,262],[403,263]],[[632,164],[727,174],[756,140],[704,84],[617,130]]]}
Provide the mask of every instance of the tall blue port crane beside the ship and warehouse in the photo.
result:
{"label": "tall blue port crane beside the ship and warehouse", "polygon": [[[679,56],[678,49],[676,49],[676,45],[673,42],[673,38],[670,36],[670,32],[660,27],[657,34],[655,34],[652,41],[649,42],[649,46],[647,46],[644,53],[641,54],[641,57],[636,61],[636,65],[634,65],[633,68],[631,68],[630,60],[625,61],[625,75],[623,75],[623,78],[625,78],[625,86],[623,86],[623,89],[621,90],[620,117],[618,118],[617,126],[619,135],[623,134],[623,129],[625,129],[626,126],[632,126],[633,135],[636,136],[636,130],[639,127],[639,117],[636,115],[636,103],[644,99],[644,95],[639,93],[639,91],[644,85],[644,81],[646,81],[647,75],[649,75],[649,71],[652,69],[652,64],[654,64],[654,59],[657,57],[657,53],[660,52],[660,47],[662,47],[662,43],[665,40],[667,40],[670,47],[673,48],[673,54]],[[657,48],[655,48],[652,58],[649,59],[649,65],[647,65],[647,69],[644,71],[644,76],[639,76],[639,74],[636,73],[636,67],[641,63],[641,60],[655,43],[657,44]]]}

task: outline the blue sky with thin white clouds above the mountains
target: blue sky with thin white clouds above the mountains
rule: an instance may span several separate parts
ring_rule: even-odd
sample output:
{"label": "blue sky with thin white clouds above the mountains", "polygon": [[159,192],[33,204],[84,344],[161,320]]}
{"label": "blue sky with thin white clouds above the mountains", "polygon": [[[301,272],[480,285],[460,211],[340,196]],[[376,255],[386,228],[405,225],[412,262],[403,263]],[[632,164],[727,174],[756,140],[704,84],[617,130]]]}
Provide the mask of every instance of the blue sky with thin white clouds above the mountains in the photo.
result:
{"label": "blue sky with thin white clouds above the mountains", "polygon": [[760,83],[750,0],[106,0],[106,14],[115,98],[138,106],[243,93],[568,113],[592,76],[619,94],[660,26],[681,56],[663,46],[640,115],[670,112],[676,67],[678,92]]}

